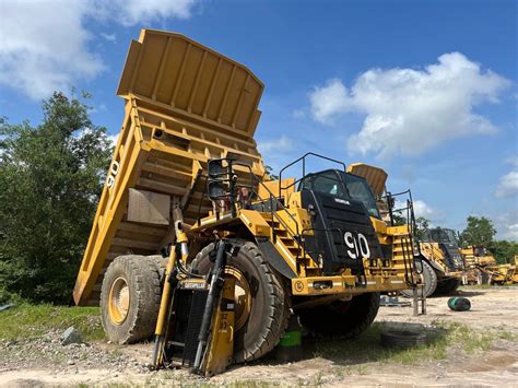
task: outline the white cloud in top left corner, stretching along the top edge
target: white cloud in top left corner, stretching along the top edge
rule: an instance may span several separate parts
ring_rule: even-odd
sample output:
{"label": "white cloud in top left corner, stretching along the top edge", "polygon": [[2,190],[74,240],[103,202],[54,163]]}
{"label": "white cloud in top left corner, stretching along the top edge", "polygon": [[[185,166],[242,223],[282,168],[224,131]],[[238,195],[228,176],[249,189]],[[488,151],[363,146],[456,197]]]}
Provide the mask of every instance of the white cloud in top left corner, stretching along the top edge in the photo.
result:
{"label": "white cloud in top left corner, stretching along the top edge", "polygon": [[[0,85],[34,99],[68,91],[105,68],[89,43],[86,21],[123,26],[156,19],[187,19],[195,0],[47,0],[0,2]],[[101,34],[111,42],[115,35]]]}

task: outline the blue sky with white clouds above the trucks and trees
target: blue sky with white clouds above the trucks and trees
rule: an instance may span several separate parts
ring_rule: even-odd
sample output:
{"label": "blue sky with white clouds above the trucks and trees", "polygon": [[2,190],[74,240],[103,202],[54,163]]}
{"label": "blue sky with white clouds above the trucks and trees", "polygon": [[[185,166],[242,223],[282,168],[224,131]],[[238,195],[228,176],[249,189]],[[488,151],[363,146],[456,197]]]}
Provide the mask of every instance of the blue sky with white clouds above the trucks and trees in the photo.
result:
{"label": "blue sky with white clouds above the trucks and trees", "polygon": [[0,115],[38,122],[40,99],[73,85],[116,133],[130,39],[175,31],[263,81],[256,140],[275,169],[307,151],[376,164],[434,224],[486,215],[518,240],[517,12],[503,0],[0,0]]}

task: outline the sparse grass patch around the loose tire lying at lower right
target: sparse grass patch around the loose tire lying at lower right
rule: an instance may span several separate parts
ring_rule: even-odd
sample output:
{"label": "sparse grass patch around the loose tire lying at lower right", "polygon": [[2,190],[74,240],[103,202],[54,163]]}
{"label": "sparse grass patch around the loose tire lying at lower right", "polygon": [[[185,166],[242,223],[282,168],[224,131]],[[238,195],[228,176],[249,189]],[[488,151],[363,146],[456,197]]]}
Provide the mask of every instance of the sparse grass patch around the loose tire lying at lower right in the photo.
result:
{"label": "sparse grass patch around the loose tire lying at lower right", "polygon": [[449,348],[460,348],[466,353],[488,350],[496,339],[517,341],[517,336],[506,331],[479,331],[460,324],[435,322],[426,332],[426,345],[407,350],[385,348],[380,334],[384,324],[374,324],[358,339],[352,341],[317,342],[316,356],[332,360],[340,365],[367,362],[416,364],[423,361],[445,360]]}

